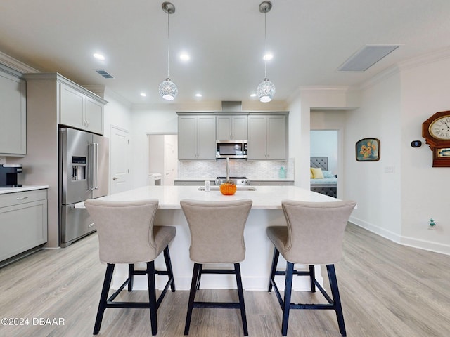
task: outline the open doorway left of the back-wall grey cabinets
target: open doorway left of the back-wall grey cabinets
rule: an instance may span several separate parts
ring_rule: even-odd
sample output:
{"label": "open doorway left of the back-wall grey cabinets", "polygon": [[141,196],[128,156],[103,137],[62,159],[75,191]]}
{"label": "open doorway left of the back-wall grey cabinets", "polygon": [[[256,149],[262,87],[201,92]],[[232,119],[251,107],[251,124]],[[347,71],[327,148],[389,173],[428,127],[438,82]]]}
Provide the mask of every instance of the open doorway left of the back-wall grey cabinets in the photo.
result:
{"label": "open doorway left of the back-wall grey cabinets", "polygon": [[174,185],[178,176],[178,135],[148,134],[148,185],[161,175],[161,185]]}

